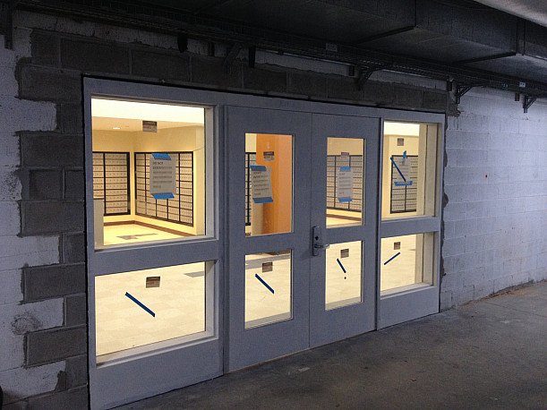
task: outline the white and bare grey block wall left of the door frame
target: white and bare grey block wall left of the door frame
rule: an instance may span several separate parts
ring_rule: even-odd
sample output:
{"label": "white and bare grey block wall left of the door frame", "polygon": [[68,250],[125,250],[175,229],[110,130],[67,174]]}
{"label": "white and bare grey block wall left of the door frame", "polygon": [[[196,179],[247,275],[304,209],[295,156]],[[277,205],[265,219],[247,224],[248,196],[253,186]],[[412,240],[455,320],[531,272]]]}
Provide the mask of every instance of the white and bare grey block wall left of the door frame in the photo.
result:
{"label": "white and bare grey block wall left of the door frame", "polygon": [[7,409],[85,408],[82,136],[66,127],[73,106],[48,79],[21,92],[30,30],[14,40],[7,50],[0,38],[0,386]]}

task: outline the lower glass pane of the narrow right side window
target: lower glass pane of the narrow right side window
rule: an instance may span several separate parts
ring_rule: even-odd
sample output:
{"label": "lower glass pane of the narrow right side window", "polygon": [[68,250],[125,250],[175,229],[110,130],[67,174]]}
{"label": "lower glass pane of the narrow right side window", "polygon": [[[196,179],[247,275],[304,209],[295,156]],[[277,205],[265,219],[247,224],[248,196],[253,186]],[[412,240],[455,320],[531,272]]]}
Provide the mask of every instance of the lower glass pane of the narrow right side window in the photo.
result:
{"label": "lower glass pane of the narrow right side window", "polygon": [[381,239],[380,292],[433,285],[434,233]]}

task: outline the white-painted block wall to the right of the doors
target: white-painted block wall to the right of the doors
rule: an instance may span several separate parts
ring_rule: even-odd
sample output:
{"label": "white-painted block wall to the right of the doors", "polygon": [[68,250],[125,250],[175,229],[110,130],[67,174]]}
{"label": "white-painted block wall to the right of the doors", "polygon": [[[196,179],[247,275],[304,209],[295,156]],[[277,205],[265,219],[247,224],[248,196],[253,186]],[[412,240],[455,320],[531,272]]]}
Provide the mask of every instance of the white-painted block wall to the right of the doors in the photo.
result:
{"label": "white-painted block wall to the right of the doors", "polygon": [[449,117],[441,309],[547,279],[547,104],[472,90]]}

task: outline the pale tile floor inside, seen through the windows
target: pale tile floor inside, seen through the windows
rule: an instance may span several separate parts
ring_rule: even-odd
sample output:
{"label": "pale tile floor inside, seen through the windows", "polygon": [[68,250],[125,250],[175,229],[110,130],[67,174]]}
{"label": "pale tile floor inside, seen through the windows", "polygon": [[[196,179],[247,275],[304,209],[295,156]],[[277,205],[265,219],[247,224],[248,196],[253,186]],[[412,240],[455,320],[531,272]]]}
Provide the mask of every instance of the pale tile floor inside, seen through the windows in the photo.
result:
{"label": "pale tile floor inside, seen through the windows", "polygon": [[[135,242],[150,241],[152,237],[180,237],[147,226],[107,228],[105,241],[109,243],[124,241],[124,236],[130,238],[128,241]],[[136,239],[133,240],[133,237]],[[400,245],[394,246],[394,243]],[[326,309],[361,302],[361,244],[336,243],[325,252]],[[400,249],[394,249],[398,246]],[[415,284],[415,247],[415,235],[382,239],[381,291]],[[384,265],[386,261],[389,262]],[[271,270],[268,265],[263,265],[268,262],[272,264]],[[148,277],[160,277],[160,285],[147,288]],[[291,278],[290,252],[247,255],[244,308],[246,328],[292,317],[291,296],[294,295],[291,295]],[[98,356],[190,335],[205,329],[203,262],[100,276],[96,278],[95,288]],[[132,295],[137,302],[126,293]],[[138,303],[154,312],[155,316]]]}

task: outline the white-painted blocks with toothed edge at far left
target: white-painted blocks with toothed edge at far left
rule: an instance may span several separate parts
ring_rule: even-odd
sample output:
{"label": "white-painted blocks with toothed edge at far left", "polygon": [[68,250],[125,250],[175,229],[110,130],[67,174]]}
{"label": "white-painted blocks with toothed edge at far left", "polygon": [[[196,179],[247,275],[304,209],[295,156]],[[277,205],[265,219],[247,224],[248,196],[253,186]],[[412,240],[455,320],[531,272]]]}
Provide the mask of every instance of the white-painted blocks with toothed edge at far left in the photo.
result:
{"label": "white-painted blocks with toothed edge at far left", "polygon": [[0,36],[0,386],[4,404],[45,393],[56,388],[57,373],[64,362],[26,368],[24,333],[63,325],[63,298],[21,303],[21,268],[58,263],[58,236],[21,237],[21,182],[19,139],[23,130],[53,130],[56,109],[53,104],[17,98],[15,64],[29,56],[30,31],[16,30],[15,47],[4,49]]}

